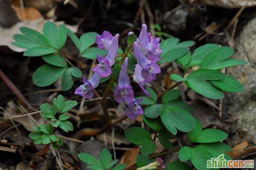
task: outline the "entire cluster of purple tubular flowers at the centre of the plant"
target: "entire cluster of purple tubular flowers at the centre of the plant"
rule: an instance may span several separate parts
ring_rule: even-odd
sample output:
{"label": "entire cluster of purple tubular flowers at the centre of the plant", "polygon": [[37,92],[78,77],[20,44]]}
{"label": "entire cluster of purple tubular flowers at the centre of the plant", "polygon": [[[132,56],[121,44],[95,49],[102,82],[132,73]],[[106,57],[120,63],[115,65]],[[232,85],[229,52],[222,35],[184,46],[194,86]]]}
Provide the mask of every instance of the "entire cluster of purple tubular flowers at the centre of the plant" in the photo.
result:
{"label": "entire cluster of purple tubular flowers at the centre of the plant", "polygon": [[[130,36],[133,32],[128,33]],[[83,77],[83,84],[75,91],[84,98],[91,99],[94,95],[93,89],[98,87],[100,79],[108,77],[112,73],[112,66],[115,63],[115,56],[118,51],[119,34],[112,36],[108,31],[96,36],[98,48],[108,52],[106,57],[97,55],[98,64],[93,69],[95,72],[90,80]],[[139,38],[134,42],[134,56],[137,60],[133,80],[139,84],[146,96],[150,97],[145,87],[150,86],[150,82],[156,79],[156,74],[160,73],[157,62],[161,59],[160,38],[154,38],[147,32],[147,25],[143,24]],[[136,119],[138,115],[144,114],[139,105],[142,99],[134,98],[134,91],[130,84],[130,78],[126,73],[128,69],[128,58],[123,60],[119,74],[118,86],[114,90],[114,98],[118,103],[125,102],[128,106],[126,115],[130,119]]]}

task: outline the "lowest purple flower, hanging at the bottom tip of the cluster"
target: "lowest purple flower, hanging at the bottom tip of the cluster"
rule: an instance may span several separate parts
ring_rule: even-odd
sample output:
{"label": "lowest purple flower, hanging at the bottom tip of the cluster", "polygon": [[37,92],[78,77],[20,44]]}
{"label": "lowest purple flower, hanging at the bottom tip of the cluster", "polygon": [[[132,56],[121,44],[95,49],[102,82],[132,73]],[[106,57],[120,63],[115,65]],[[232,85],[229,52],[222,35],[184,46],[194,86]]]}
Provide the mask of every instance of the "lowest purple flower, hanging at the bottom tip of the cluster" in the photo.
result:
{"label": "lowest purple flower, hanging at the bottom tip of the cluster", "polygon": [[128,107],[126,108],[126,116],[129,119],[136,119],[137,116],[143,115],[144,111],[139,105],[143,99],[133,99],[129,104]]}

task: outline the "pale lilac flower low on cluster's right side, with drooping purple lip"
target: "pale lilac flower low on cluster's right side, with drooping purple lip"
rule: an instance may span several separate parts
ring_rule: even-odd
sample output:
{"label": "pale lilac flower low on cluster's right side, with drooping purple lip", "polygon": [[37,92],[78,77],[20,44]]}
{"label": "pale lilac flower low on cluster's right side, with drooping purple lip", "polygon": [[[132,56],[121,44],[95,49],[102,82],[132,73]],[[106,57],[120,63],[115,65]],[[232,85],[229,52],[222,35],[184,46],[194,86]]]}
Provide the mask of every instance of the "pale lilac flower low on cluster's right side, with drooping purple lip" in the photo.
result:
{"label": "pale lilac flower low on cluster's right side, with drooping purple lip", "polygon": [[135,66],[135,70],[134,70],[134,77],[133,80],[134,82],[139,84],[139,87],[141,87],[141,90],[144,92],[144,94],[150,98],[150,94],[147,92],[147,90],[145,89],[145,87],[149,87],[151,86],[149,82],[145,81],[145,79],[142,77],[141,75],[142,72],[142,67],[137,64]]}

